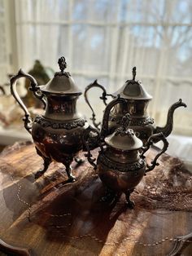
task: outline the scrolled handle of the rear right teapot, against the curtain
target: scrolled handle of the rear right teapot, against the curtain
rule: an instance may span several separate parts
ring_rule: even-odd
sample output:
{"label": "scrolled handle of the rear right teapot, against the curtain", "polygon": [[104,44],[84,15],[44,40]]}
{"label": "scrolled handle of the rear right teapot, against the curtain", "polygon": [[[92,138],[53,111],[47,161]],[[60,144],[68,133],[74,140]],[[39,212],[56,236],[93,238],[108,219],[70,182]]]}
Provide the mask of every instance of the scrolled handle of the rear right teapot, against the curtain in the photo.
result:
{"label": "scrolled handle of the rear right teapot, against the curtain", "polygon": [[92,108],[91,104],[89,103],[89,99],[88,99],[88,96],[87,96],[88,90],[91,89],[91,88],[93,88],[93,87],[98,87],[98,88],[100,88],[100,89],[103,90],[103,95],[102,95],[101,97],[99,97],[99,98],[103,100],[103,103],[104,103],[106,106],[107,106],[107,102],[106,102],[107,96],[111,96],[111,97],[114,97],[114,96],[113,96],[113,95],[110,95],[110,94],[107,94],[106,89],[105,89],[103,86],[99,85],[97,80],[95,80],[94,82],[92,82],[91,84],[89,84],[89,86],[86,86],[86,88],[85,88],[85,92],[84,92],[85,102],[86,102],[86,104],[89,105],[89,108],[91,109],[91,112],[92,112],[92,117],[90,118],[90,120],[93,121],[94,127],[95,127],[96,129],[98,129],[98,126],[100,126],[101,122],[100,122],[100,121],[99,121],[99,122],[96,122],[96,114],[94,113],[94,108]]}

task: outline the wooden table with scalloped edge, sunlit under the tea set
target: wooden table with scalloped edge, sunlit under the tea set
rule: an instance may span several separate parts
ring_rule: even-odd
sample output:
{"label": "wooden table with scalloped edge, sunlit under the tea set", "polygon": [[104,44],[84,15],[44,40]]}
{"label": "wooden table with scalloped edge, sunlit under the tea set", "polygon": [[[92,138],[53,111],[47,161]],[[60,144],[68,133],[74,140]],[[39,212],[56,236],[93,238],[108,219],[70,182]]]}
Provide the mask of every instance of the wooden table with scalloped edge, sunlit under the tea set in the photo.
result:
{"label": "wooden table with scalloped edge, sunlit under the tea set", "polygon": [[[151,150],[147,159],[155,153]],[[156,175],[159,168],[168,170],[173,160],[164,154],[161,167],[145,179]],[[177,160],[177,164],[181,162]],[[179,245],[177,236],[192,231],[191,205],[186,202],[188,210],[173,211],[164,209],[164,201],[146,200],[138,192],[146,188],[145,179],[133,192],[136,206],[129,210],[124,196],[112,205],[99,201],[103,184],[88,163],[73,163],[75,183],[66,183],[59,163],[52,163],[35,180],[41,165],[33,143],[15,143],[0,155],[0,238],[28,249],[18,250],[18,255],[168,255]],[[185,242],[190,246],[181,255],[192,255],[189,241],[190,237]],[[2,250],[8,246],[1,244]]]}

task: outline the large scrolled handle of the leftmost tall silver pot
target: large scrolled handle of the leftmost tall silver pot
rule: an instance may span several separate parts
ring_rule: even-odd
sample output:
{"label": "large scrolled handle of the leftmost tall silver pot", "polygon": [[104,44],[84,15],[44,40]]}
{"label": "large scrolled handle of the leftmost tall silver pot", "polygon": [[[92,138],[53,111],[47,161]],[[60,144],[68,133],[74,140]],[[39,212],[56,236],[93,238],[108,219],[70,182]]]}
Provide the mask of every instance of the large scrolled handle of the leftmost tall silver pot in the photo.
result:
{"label": "large scrolled handle of the leftmost tall silver pot", "polygon": [[32,122],[33,122],[32,118],[30,117],[30,113],[28,112],[28,108],[24,105],[23,101],[20,99],[20,95],[18,95],[17,90],[16,90],[16,81],[17,81],[17,79],[19,79],[21,77],[25,77],[25,78],[28,78],[30,80],[31,87],[29,88],[29,90],[33,91],[33,95],[35,95],[35,97],[37,99],[40,99],[45,107],[46,107],[46,101],[45,101],[45,99],[43,99],[44,95],[42,95],[39,92],[39,87],[37,86],[37,82],[34,79],[34,77],[29,75],[28,73],[24,73],[24,71],[22,69],[20,69],[19,72],[15,76],[11,77],[11,79],[10,79],[11,95],[13,95],[13,97],[15,98],[17,103],[20,104],[20,107],[24,110],[24,118],[23,118],[24,128],[26,130],[28,130],[29,134],[31,134]]}

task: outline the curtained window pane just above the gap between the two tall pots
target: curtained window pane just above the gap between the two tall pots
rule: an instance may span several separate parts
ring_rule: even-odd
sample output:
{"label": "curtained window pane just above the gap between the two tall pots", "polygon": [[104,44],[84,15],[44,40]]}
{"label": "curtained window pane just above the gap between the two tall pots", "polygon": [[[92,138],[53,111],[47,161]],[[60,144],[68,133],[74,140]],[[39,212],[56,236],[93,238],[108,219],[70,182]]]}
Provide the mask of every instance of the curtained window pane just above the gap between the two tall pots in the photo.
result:
{"label": "curtained window pane just above the gap between the two tall pots", "polygon": [[107,72],[109,68],[109,28],[90,25],[72,26],[73,66],[85,72]]}

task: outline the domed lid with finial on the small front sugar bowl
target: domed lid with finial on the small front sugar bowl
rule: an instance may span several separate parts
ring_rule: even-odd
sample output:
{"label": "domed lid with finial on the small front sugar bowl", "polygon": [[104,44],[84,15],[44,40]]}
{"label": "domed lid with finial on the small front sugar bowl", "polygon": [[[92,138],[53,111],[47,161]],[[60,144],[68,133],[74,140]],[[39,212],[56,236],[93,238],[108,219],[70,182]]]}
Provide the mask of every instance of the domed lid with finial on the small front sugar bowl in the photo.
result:
{"label": "domed lid with finial on the small front sugar bowl", "polygon": [[129,129],[130,115],[126,114],[122,118],[122,126],[105,138],[107,145],[121,150],[135,150],[142,148],[142,140],[138,139],[132,129]]}

